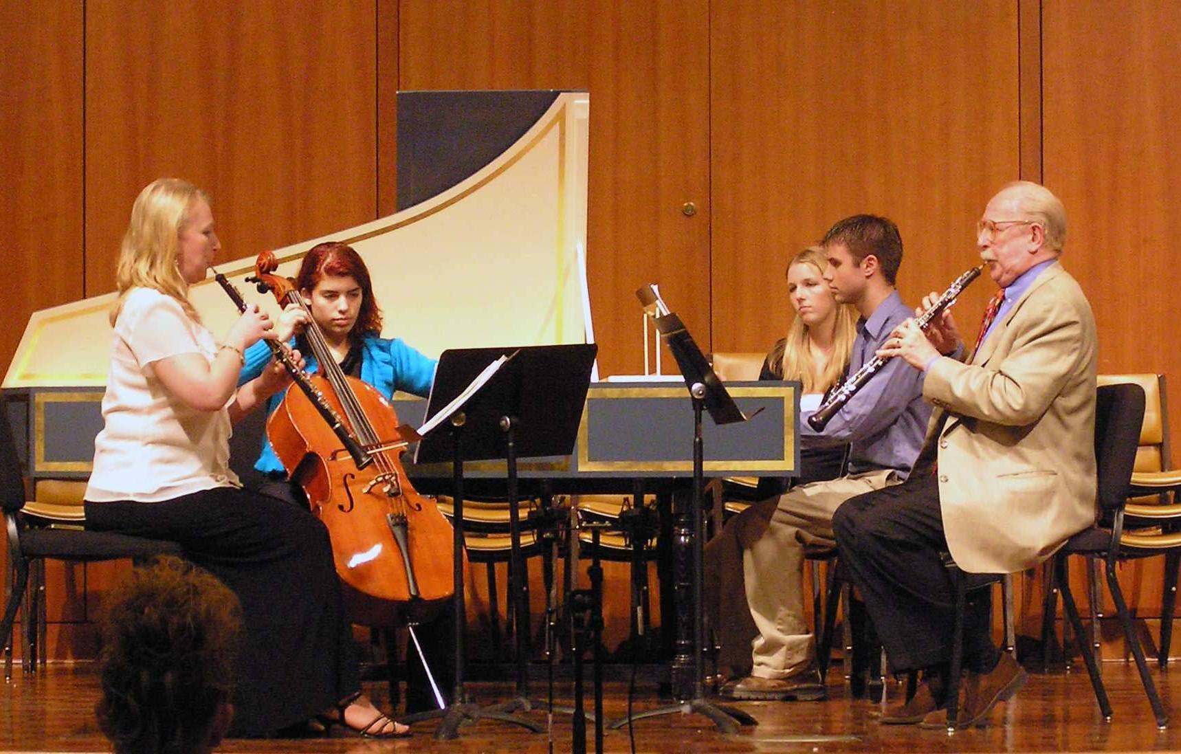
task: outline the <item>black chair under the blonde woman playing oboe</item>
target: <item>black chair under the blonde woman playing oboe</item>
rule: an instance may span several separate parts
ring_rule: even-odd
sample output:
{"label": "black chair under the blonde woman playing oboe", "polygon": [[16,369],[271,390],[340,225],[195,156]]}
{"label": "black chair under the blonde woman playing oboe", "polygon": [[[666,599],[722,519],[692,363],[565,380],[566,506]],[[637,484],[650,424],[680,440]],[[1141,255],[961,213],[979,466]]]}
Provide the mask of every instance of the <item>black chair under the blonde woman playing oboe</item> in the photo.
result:
{"label": "black chair under the blonde woman playing oboe", "polygon": [[[0,405],[2,408],[2,405]],[[17,457],[17,445],[8,425],[8,415],[0,411],[0,507],[4,509],[5,529],[8,536],[8,598],[0,621],[0,643],[5,648],[5,680],[12,677],[12,627],[17,609],[28,589],[30,570],[44,559],[89,563],[94,560],[148,559],[156,555],[182,555],[175,542],[128,537],[110,532],[83,531],[80,529],[57,529],[32,526],[22,513],[25,507],[25,480]],[[37,598],[28,599],[25,615],[26,655],[37,632],[35,623],[40,610]],[[33,656],[22,657],[25,673],[33,673]]]}

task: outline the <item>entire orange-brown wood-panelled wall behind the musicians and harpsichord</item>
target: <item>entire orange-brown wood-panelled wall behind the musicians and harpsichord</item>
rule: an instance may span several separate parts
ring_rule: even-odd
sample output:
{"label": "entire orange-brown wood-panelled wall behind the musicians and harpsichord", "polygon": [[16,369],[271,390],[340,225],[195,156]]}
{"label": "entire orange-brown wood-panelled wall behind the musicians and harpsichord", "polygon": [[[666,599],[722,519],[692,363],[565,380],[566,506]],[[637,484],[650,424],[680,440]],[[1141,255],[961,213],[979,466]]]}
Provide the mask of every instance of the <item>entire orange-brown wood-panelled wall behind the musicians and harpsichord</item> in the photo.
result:
{"label": "entire orange-brown wood-panelled wall behind the musicians and harpsichord", "polygon": [[[1179,32],[1164,0],[0,0],[0,365],[32,310],[112,287],[131,201],[159,175],[205,186],[226,255],[246,255],[393,210],[398,90],[556,87],[592,94],[603,374],[641,366],[641,283],[703,347],[763,350],[787,324],[787,258],[834,221],[893,217],[916,301],[972,264],[1001,183],[1044,176],[1101,368],[1176,385]],[[51,572],[56,656],[91,651],[110,578]]]}

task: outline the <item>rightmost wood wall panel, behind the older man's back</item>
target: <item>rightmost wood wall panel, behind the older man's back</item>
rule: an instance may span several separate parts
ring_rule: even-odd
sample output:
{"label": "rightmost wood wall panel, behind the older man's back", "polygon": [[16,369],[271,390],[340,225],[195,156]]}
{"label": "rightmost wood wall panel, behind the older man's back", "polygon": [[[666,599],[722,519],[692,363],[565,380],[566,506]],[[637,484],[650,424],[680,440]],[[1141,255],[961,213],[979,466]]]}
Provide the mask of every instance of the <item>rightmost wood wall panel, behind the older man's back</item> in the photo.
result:
{"label": "rightmost wood wall panel, behind the older man's back", "polygon": [[[1066,205],[1063,263],[1095,310],[1100,372],[1161,372],[1173,380],[1175,439],[1181,5],[1048,1],[1042,24],[1043,170]],[[1155,558],[1125,566],[1121,576],[1141,615],[1160,615],[1162,568]]]}

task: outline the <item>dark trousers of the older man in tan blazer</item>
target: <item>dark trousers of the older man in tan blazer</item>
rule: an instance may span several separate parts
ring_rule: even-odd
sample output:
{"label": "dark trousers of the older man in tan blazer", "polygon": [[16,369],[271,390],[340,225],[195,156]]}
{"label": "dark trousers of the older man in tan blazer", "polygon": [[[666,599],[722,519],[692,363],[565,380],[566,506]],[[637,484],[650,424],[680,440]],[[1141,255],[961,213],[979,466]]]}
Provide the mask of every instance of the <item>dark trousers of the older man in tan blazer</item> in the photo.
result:
{"label": "dark trousers of the older man in tan blazer", "polygon": [[[940,552],[947,551],[939,484],[915,472],[900,485],[847,500],[833,517],[841,566],[895,670],[939,668],[951,658],[955,592]],[[992,669],[991,591],[971,594],[964,624],[964,667]]]}

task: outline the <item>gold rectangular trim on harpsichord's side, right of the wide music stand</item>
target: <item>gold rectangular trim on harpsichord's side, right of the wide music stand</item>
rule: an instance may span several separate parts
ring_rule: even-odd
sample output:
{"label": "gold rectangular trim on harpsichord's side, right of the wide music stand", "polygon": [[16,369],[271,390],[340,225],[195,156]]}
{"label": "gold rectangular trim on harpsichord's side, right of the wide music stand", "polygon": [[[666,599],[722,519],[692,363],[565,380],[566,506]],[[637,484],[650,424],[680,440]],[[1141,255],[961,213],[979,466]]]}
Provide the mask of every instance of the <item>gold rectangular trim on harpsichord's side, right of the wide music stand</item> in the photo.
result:
{"label": "gold rectangular trim on harpsichord's side, right of the wide music stand", "polygon": [[[731,398],[778,398],[783,401],[783,447],[781,458],[775,460],[706,460],[703,463],[705,472],[729,472],[735,466],[740,466],[743,471],[794,471],[795,468],[795,408],[796,388],[791,385],[758,386],[758,387],[727,387],[726,392]],[[590,401],[614,400],[621,398],[689,398],[689,388],[684,385],[677,387],[592,387],[587,392],[587,400],[582,405],[582,419],[579,422],[579,471],[635,471],[635,472],[671,472],[693,471],[693,460],[673,461],[601,461],[590,460],[589,457],[589,433],[590,433]]]}

